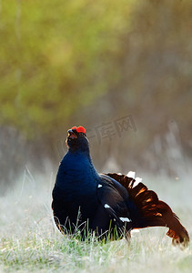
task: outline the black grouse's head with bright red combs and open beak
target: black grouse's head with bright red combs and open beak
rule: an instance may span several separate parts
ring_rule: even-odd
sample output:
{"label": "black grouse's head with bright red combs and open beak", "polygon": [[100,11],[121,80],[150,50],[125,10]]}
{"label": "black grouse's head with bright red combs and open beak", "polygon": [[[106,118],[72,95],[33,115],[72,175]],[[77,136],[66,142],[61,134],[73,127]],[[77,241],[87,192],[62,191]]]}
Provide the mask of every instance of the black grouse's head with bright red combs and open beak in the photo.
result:
{"label": "black grouse's head with bright red combs and open beak", "polygon": [[68,131],[66,146],[70,151],[89,151],[88,139],[86,138],[86,129],[83,126],[73,126]]}

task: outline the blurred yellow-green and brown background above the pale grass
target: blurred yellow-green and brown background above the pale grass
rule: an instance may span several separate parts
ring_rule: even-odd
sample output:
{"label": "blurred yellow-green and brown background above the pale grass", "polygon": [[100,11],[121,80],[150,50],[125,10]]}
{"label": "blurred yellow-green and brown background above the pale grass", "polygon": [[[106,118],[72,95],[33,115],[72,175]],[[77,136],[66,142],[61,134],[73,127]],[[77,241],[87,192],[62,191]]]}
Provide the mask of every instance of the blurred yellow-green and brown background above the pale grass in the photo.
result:
{"label": "blurred yellow-green and brown background above the pale grass", "polygon": [[99,171],[185,172],[191,15],[191,0],[1,0],[1,185],[54,170],[78,125]]}

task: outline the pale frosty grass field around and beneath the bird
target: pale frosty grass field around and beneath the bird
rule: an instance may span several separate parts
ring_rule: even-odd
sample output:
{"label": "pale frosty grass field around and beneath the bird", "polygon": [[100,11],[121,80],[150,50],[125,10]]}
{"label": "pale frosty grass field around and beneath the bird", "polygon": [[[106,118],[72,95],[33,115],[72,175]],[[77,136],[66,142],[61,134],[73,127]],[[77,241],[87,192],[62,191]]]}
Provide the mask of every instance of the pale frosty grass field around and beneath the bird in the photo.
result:
{"label": "pale frosty grass field around and beneath the bird", "polygon": [[[44,177],[45,178],[45,177]],[[171,245],[167,228],[152,227],[125,239],[81,242],[57,231],[52,217],[50,183],[25,175],[21,184],[0,197],[0,272],[191,272],[192,248]],[[153,182],[152,182],[153,180]],[[192,186],[176,181],[146,178],[192,234]],[[37,183],[38,182],[38,183]]]}

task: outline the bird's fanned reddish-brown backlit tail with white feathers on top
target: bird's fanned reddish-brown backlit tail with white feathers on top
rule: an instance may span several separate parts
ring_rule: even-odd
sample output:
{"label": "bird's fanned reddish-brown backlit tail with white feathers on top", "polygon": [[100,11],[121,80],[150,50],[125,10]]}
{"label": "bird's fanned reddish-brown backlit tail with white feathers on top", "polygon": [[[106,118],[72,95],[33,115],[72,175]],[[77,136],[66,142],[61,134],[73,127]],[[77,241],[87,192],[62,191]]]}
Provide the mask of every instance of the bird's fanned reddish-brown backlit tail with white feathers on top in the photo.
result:
{"label": "bird's fanned reddish-brown backlit tail with white feathers on top", "polygon": [[173,238],[173,243],[187,245],[189,241],[188,233],[186,228],[181,225],[177,215],[167,203],[158,199],[157,194],[153,190],[149,190],[147,186],[141,183],[141,179],[116,173],[109,173],[106,176],[112,177],[123,187],[126,187],[129,198],[139,211],[138,216],[135,215],[134,211],[133,213],[130,212],[135,228],[169,227],[167,236]]}

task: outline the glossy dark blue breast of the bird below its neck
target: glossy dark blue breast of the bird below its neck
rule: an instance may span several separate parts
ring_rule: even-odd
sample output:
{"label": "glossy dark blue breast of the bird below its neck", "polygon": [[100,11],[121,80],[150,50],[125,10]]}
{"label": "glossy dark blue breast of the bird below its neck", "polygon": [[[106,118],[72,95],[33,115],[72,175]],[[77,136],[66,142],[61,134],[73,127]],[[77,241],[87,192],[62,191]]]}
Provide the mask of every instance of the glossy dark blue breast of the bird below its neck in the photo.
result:
{"label": "glossy dark blue breast of the bird below its neck", "polygon": [[79,207],[86,217],[95,212],[97,180],[96,169],[85,158],[62,162],[56,176],[55,192],[59,193],[66,215],[75,215]]}

